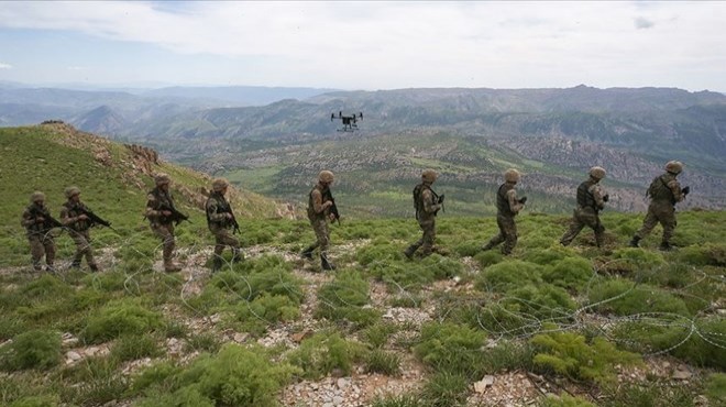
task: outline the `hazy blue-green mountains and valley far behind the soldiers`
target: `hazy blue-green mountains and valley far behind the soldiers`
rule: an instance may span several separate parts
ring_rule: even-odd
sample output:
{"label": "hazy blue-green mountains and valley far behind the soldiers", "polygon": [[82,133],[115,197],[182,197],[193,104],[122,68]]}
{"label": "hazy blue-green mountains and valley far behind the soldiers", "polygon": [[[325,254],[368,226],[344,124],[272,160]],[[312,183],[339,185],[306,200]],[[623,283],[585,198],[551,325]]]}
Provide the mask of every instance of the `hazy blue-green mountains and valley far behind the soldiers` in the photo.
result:
{"label": "hazy blue-green mountains and valley far behind the soldiers", "polygon": [[[352,177],[340,188],[356,196],[392,182],[403,188],[430,166],[457,180],[471,201],[462,210],[477,212],[491,210],[475,202],[482,185],[516,166],[541,194],[541,210],[565,211],[586,168],[603,165],[618,190],[613,205],[641,210],[645,185],[667,161],[681,160],[694,189],[686,206],[726,207],[726,96],[711,91],[219,87],[132,95],[8,87],[0,100],[0,123],[65,120],[240,183],[264,180],[260,191],[285,199],[323,166]],[[244,106],[254,101],[263,106]],[[364,112],[360,131],[337,131],[340,121],[330,116],[339,111]],[[370,200],[365,211],[391,204]]]}

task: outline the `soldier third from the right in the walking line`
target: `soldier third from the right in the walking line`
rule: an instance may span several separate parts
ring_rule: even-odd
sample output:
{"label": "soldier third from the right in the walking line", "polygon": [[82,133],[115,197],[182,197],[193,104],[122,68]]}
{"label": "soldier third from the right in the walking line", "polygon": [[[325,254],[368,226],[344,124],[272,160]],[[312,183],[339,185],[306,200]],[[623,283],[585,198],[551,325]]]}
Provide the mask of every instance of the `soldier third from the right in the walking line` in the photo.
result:
{"label": "soldier third from the right in the walking line", "polygon": [[508,255],[517,245],[517,224],[514,218],[525,207],[527,197],[517,199],[515,185],[519,182],[519,172],[509,168],[504,173],[505,183],[499,186],[496,193],[496,224],[499,227],[499,234],[495,235],[482,246],[482,250],[490,250],[504,242],[502,253]]}

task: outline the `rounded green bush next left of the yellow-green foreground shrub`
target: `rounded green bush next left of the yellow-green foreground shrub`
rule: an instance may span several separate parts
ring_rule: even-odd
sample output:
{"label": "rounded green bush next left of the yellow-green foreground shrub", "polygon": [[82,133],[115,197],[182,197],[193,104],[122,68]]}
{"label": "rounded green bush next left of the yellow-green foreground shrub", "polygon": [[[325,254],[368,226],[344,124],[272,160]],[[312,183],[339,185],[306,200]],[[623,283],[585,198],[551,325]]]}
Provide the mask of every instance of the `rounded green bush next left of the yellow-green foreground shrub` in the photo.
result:
{"label": "rounded green bush next left of the yellow-green foreground shrub", "polygon": [[430,322],[421,327],[414,353],[438,372],[476,376],[485,341],[483,331],[451,322]]}

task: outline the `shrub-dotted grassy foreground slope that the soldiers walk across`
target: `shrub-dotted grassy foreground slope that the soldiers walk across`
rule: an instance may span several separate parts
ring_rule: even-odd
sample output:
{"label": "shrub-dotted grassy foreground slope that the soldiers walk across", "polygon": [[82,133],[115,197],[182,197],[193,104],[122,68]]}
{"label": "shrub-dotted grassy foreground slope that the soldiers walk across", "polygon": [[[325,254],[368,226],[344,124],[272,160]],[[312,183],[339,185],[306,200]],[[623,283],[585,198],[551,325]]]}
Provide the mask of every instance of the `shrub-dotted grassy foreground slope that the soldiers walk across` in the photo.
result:
{"label": "shrub-dotted grassy foreground slope that the soldiers walk across", "polygon": [[175,274],[146,231],[101,239],[100,274],[3,260],[0,404],[721,405],[726,213],[680,213],[668,253],[624,248],[641,220],[606,215],[606,248],[591,231],[561,248],[566,218],[525,212],[503,257],[477,250],[492,217],[443,215],[443,254],[415,261],[413,219],[346,220],[334,273],[299,258],[314,234],[292,220],[243,221],[246,261],[216,275],[186,232]]}

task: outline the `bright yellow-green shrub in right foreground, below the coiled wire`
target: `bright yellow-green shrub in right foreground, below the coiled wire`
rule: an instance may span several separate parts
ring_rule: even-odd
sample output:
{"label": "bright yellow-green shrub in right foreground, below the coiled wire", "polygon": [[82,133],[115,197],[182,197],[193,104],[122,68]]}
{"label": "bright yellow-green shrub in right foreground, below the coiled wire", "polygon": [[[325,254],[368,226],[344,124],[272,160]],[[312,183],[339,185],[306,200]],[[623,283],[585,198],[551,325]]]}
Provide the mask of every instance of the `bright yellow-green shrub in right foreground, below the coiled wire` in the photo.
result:
{"label": "bright yellow-green shrub in right foreground, below the coiled wire", "polygon": [[592,381],[601,385],[615,382],[615,365],[634,365],[640,362],[640,355],[619,351],[603,338],[594,338],[592,344],[588,344],[581,334],[552,332],[538,334],[530,341],[542,350],[535,355],[535,364],[570,378]]}

